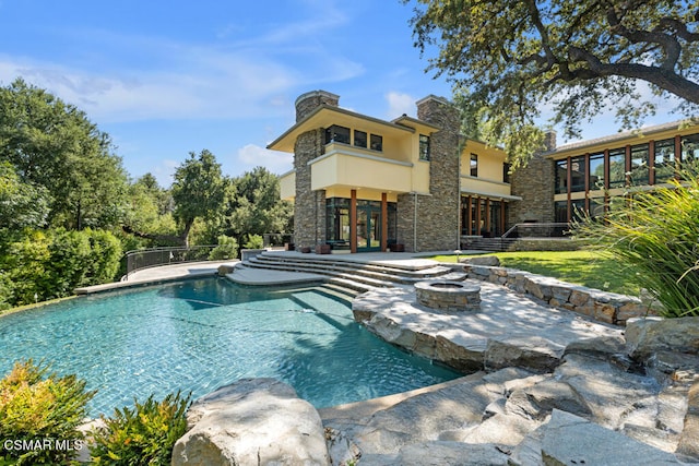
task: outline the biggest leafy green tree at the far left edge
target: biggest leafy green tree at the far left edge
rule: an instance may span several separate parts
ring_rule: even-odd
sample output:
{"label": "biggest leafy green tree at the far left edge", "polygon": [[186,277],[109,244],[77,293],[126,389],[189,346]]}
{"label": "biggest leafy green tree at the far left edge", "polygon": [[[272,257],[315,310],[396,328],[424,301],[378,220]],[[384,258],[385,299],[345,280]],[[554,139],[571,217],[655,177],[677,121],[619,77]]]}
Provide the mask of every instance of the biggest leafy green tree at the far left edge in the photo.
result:
{"label": "biggest leafy green tree at the far left edge", "polygon": [[0,162],[48,191],[49,226],[118,224],[127,176],[111,150],[108,134],[74,106],[21,79],[0,87]]}

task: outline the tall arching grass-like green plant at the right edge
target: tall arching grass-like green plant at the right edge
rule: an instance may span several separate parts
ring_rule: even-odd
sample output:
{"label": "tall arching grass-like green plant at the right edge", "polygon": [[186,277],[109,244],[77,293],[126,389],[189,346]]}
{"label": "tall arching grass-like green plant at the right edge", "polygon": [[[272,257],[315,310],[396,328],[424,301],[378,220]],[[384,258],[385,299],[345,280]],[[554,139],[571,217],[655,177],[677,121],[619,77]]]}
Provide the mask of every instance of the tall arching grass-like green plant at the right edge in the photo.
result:
{"label": "tall arching grass-like green plant at the right edge", "polygon": [[666,318],[699,316],[699,179],[683,179],[573,225],[576,236],[629,266],[629,280],[657,299]]}

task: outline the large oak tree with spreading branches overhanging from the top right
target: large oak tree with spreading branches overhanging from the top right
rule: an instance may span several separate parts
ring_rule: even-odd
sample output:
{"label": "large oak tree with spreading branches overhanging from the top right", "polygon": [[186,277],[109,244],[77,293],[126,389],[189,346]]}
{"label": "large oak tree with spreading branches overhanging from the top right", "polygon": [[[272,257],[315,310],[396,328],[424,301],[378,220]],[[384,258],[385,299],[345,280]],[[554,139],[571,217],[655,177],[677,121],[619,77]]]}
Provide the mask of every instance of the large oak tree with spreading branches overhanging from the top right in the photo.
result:
{"label": "large oak tree with spreading branches overhanging from the top right", "polygon": [[[403,0],[410,3],[410,0]],[[609,106],[623,128],[638,127],[660,96],[699,105],[696,0],[417,0],[415,45],[438,48],[428,70],[454,84],[464,127],[501,143],[517,167],[541,147],[544,106],[567,136]]]}

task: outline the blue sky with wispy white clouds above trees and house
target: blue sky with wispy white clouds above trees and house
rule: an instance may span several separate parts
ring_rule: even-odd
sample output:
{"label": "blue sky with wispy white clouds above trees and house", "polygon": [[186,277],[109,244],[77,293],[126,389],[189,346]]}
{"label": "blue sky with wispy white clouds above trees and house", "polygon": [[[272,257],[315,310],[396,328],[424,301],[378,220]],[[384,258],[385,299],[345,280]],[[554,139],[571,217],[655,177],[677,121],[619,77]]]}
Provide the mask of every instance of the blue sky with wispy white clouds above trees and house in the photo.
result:
{"label": "blue sky with wispy white clouds above trees and house", "polygon": [[[412,15],[399,0],[0,0],[0,85],[22,76],[78,106],[134,179],[150,171],[169,186],[203,148],[229,176],[282,174],[291,154],[264,147],[305,92],[388,120],[450,96],[424,71]],[[612,117],[596,122],[585,139],[616,129]]]}

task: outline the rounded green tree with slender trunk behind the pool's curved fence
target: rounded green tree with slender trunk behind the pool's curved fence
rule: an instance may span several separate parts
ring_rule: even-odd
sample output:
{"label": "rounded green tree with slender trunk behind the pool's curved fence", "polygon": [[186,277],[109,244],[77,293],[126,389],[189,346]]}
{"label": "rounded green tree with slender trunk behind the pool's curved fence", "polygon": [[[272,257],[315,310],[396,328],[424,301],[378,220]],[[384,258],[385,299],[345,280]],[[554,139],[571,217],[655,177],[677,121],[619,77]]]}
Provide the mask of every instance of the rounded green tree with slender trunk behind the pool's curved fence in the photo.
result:
{"label": "rounded green tree with slender trunk behind the pool's curved fence", "polygon": [[189,158],[177,167],[171,193],[182,244],[189,246],[189,232],[197,218],[208,219],[220,212],[227,183],[221,164],[206,150],[199,155],[190,152]]}

